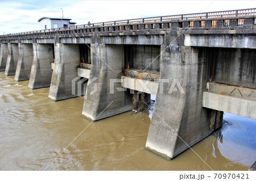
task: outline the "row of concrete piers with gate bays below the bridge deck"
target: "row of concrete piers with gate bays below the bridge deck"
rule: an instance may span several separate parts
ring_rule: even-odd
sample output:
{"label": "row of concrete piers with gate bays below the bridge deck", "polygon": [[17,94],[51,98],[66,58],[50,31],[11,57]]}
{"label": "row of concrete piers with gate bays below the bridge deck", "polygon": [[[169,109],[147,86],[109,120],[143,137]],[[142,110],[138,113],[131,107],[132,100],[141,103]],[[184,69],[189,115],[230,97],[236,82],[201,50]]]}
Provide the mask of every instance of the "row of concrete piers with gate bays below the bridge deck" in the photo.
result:
{"label": "row of concrete piers with gate bays below the bridge deck", "polygon": [[[171,159],[220,128],[224,108],[237,110],[214,104],[214,96],[230,105],[242,102],[244,116],[255,117],[251,57],[255,52],[247,48],[2,43],[0,66],[16,81],[29,80],[31,89],[50,87],[49,99],[84,95],[82,116],[91,121],[131,111],[138,99],[148,103],[155,94],[146,149]],[[232,86],[220,82],[251,88],[237,88],[241,100]],[[143,92],[140,97],[138,92]]]}

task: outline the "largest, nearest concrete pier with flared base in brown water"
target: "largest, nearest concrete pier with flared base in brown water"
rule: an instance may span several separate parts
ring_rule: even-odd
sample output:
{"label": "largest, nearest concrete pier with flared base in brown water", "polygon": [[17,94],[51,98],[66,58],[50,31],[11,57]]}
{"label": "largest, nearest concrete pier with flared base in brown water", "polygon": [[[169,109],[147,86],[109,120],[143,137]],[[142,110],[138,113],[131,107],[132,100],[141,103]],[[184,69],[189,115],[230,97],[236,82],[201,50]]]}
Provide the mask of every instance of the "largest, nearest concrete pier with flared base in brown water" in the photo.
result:
{"label": "largest, nearest concrete pier with flared base in brown water", "polygon": [[198,48],[176,45],[162,46],[162,51],[160,82],[146,149],[171,159],[212,133],[216,116],[211,122],[212,110],[202,107],[209,75],[204,53]]}

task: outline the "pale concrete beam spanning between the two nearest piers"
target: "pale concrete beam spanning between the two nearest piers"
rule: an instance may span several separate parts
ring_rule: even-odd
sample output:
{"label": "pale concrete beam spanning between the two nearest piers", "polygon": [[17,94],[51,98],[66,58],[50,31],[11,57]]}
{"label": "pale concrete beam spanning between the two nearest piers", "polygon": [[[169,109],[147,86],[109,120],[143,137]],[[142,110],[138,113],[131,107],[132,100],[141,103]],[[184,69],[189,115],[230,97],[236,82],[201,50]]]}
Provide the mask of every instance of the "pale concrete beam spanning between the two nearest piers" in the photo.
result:
{"label": "pale concrete beam spanning between the two nearest piers", "polygon": [[156,95],[158,82],[122,76],[122,87]]}

